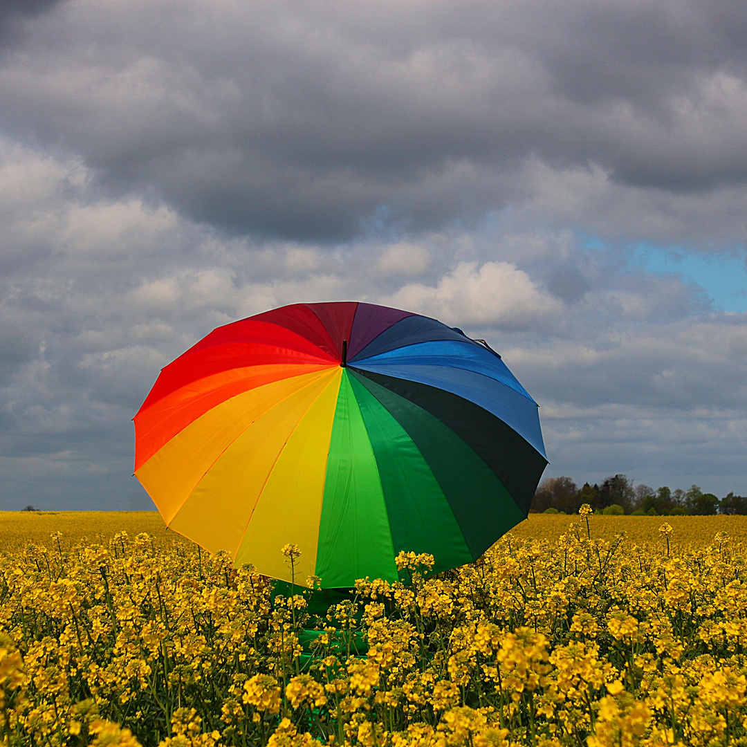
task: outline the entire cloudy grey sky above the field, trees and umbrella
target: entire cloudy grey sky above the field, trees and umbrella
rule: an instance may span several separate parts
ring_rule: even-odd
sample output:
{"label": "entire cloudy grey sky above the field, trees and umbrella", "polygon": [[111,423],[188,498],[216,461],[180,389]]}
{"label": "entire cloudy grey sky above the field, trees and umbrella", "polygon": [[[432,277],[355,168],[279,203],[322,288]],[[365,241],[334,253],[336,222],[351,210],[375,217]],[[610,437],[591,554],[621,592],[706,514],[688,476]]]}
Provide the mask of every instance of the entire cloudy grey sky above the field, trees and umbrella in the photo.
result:
{"label": "entire cloudy grey sky above the field, trees and umbrella", "polygon": [[0,508],[152,506],[131,417],[215,326],[486,338],[548,476],[747,495],[747,6],[4,0]]}

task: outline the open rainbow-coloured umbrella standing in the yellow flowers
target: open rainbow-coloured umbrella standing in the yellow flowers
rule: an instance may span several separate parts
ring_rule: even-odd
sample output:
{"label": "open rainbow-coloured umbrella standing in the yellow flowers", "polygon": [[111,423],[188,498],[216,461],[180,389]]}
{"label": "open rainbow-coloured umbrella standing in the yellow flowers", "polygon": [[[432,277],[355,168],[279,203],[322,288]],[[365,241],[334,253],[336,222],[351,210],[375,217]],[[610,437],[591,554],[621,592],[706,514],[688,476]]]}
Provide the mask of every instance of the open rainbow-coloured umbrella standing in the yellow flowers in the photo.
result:
{"label": "open rainbow-coloured umbrella standing in the yellow flowers", "polygon": [[219,327],[134,417],[135,475],[166,524],[291,580],[397,579],[480,557],[547,465],[537,405],[497,353],[370,303],[284,306]]}

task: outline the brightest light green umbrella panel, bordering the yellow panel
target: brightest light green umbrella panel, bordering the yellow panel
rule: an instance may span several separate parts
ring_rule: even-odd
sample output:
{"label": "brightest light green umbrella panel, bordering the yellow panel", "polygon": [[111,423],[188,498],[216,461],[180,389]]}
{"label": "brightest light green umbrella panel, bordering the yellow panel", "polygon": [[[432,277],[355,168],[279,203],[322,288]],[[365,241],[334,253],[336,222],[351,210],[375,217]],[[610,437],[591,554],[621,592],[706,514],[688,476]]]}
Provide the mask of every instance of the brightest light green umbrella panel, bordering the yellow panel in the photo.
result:
{"label": "brightest light green umbrella panel, bordering the yellow panel", "polygon": [[347,368],[329,439],[316,574],[326,588],[367,575],[397,580],[379,471]]}

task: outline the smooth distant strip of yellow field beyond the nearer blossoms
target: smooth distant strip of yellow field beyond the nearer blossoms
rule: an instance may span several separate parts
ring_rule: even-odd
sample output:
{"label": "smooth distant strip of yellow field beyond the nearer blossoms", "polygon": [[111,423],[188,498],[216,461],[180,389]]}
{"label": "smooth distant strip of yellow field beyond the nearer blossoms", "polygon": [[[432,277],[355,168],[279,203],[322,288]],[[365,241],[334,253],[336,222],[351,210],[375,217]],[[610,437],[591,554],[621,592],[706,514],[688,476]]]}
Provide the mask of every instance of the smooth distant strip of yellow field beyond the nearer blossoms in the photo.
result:
{"label": "smooth distant strip of yellow field beyond the nearer blossoms", "polygon": [[[672,526],[669,542],[672,552],[696,550],[713,543],[718,532],[725,532],[732,547],[747,544],[747,516],[599,516],[589,517],[592,539],[613,539],[625,533],[626,544],[660,546],[664,539],[659,527]],[[575,529],[569,527],[574,524]],[[530,514],[512,530],[517,539],[555,542],[568,531],[586,536],[586,521],[580,516]],[[2,511],[0,512],[0,551],[23,551],[29,544],[56,546],[51,535],[61,533],[59,542],[66,548],[87,539],[106,544],[115,534],[125,531],[134,537],[141,532],[152,536],[159,547],[192,545],[176,532],[167,530],[156,511]]]}

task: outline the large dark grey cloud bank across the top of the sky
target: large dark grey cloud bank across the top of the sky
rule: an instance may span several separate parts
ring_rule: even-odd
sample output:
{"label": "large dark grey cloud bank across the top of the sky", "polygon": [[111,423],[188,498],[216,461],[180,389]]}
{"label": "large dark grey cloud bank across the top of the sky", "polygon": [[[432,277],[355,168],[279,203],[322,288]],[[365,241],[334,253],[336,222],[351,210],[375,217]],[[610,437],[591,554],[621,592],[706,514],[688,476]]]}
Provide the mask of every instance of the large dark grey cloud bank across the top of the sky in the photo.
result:
{"label": "large dark grey cloud bank across the top of the sky", "polygon": [[238,234],[476,220],[521,199],[530,158],[667,190],[747,179],[736,2],[61,10],[5,60],[4,126]]}

